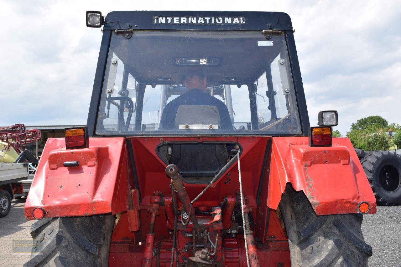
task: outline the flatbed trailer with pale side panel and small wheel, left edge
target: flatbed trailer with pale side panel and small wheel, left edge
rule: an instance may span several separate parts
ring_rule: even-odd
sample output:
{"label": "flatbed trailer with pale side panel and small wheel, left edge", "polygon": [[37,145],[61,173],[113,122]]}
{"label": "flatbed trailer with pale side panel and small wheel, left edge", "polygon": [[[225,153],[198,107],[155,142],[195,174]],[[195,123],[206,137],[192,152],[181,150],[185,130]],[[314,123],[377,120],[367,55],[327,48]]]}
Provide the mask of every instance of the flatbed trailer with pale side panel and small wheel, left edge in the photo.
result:
{"label": "flatbed trailer with pale side panel and small wheel, left edge", "polygon": [[29,178],[28,163],[0,163],[0,217],[8,215],[14,197],[28,195],[22,181]]}

